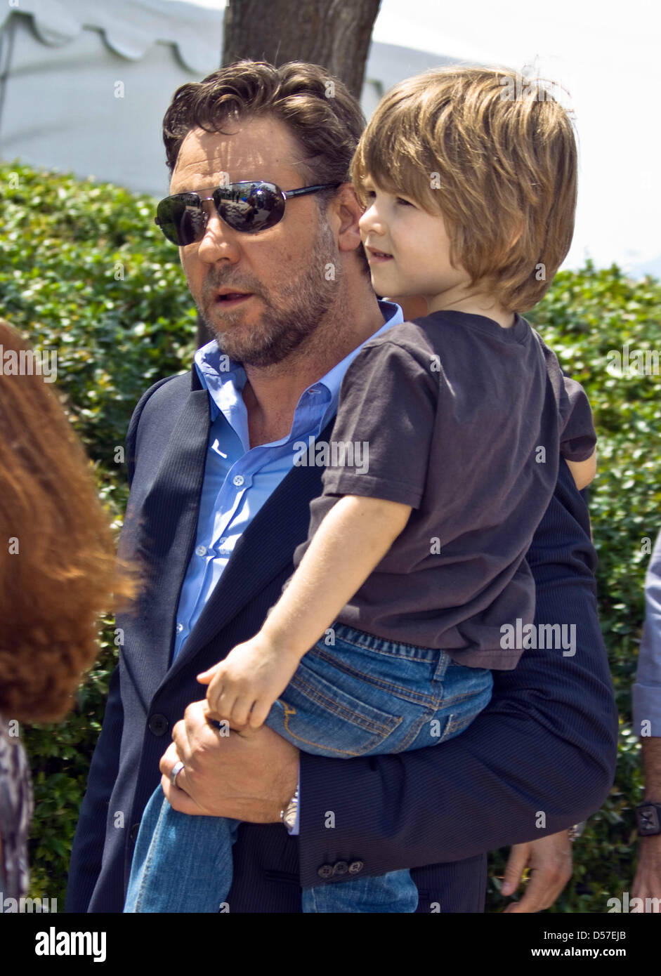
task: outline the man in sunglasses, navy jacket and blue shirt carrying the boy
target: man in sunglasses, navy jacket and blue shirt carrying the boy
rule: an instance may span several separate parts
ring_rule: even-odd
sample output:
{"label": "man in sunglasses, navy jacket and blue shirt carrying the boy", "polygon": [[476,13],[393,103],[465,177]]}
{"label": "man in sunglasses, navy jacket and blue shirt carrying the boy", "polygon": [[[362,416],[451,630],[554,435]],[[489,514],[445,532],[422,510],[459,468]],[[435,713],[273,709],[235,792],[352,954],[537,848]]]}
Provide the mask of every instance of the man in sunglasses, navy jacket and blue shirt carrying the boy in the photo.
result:
{"label": "man in sunglasses, navy jacket and blue shirt carrying the boy", "polygon": [[[529,859],[547,865],[548,890],[528,911],[547,907],[568,876],[557,868],[562,832],[612,782],[617,716],[595,553],[562,463],[528,560],[537,621],[575,623],[574,657],[526,651],[443,749],[333,759],[267,726],[226,735],[207,720],[195,675],[260,629],[307,536],[322,468],[295,465],[294,444],[330,441],[351,358],[401,321],[375,297],[360,246],[347,175],[362,125],[341,82],[302,63],[237,62],[183,86],[166,113],[172,180],[156,223],[179,247],[215,341],[189,375],[148,389],[129,427],[122,551],[146,564],[147,582],[137,614],[118,621],[124,646],[69,911],[122,910],[159,778],[176,809],[242,821],[221,911],[287,913],[301,911],[301,885],[401,868],[412,869],[419,912],[480,912],[485,852],[511,843],[524,851],[519,872]],[[538,837],[550,855],[530,854]]]}

